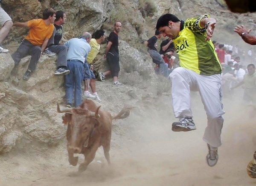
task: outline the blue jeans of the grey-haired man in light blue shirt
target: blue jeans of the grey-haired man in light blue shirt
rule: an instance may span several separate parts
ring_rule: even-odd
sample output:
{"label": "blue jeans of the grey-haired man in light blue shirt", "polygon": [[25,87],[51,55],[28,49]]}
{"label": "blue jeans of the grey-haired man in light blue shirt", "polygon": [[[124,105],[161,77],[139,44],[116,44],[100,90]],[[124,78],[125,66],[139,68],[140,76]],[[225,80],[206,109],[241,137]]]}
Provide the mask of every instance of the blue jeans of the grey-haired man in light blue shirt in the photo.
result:
{"label": "blue jeans of the grey-haired man in light blue shirt", "polygon": [[67,69],[70,70],[70,73],[65,75],[67,103],[72,103],[75,92],[75,107],[78,107],[82,102],[81,83],[84,78],[84,66],[79,60],[67,60]]}

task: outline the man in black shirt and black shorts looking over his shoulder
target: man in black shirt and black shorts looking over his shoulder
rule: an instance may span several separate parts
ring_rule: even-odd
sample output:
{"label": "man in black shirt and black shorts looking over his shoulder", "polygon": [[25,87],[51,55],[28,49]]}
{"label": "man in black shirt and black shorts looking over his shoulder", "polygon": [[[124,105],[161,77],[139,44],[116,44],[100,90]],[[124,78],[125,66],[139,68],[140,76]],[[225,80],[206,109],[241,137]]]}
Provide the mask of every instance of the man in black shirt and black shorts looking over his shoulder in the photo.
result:
{"label": "man in black shirt and black shorts looking over his shoulder", "polygon": [[108,36],[108,43],[105,49],[104,58],[107,58],[107,63],[109,65],[110,70],[105,72],[99,72],[99,77],[102,81],[105,81],[105,76],[111,74],[113,77],[113,85],[114,86],[123,86],[122,83],[119,83],[117,80],[120,66],[119,66],[119,40],[118,33],[121,30],[122,23],[116,22],[114,25],[114,30]]}

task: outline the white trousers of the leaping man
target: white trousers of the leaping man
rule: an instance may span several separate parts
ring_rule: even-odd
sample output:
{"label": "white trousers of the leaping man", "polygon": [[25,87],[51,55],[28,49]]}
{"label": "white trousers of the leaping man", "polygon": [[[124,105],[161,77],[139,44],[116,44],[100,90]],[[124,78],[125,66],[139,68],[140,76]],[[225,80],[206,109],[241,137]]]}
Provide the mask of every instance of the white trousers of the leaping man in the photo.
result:
{"label": "white trousers of the leaping man", "polygon": [[221,103],[221,74],[200,75],[178,67],[169,75],[172,83],[172,106],[176,118],[193,117],[190,91],[199,91],[207,114],[204,141],[213,147],[221,146],[221,129],[225,113]]}

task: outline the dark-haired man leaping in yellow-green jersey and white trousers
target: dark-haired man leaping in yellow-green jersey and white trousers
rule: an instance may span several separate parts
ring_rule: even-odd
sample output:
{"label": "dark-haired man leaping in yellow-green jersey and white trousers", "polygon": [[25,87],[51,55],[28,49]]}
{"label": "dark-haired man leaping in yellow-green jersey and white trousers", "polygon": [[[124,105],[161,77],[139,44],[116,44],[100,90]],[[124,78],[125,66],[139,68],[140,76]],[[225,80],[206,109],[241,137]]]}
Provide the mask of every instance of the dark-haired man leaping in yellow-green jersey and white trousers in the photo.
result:
{"label": "dark-haired man leaping in yellow-green jersey and white trousers", "polygon": [[211,41],[215,24],[216,20],[207,14],[186,20],[164,14],[157,20],[156,26],[163,37],[172,38],[180,59],[180,67],[169,75],[173,111],[175,117],[180,119],[172,123],[172,131],[196,129],[190,91],[199,91],[207,113],[203,139],[208,147],[206,161],[209,166],[215,166],[218,161],[224,122],[222,115],[225,113],[221,102],[221,64]]}

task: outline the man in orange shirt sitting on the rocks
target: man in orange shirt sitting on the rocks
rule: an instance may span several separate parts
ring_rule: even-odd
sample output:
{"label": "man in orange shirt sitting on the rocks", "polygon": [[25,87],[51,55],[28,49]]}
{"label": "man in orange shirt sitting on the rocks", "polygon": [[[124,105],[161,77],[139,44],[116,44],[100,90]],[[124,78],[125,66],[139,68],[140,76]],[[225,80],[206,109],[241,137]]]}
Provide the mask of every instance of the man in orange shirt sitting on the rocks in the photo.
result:
{"label": "man in orange shirt sitting on the rocks", "polygon": [[12,75],[17,74],[20,60],[26,55],[31,55],[29,67],[23,75],[23,80],[28,80],[31,73],[35,70],[36,64],[47,46],[49,38],[52,36],[54,30],[54,23],[56,11],[52,8],[45,9],[43,12],[43,19],[34,19],[25,23],[13,23],[13,26],[28,27],[29,34],[22,40],[17,51],[12,54],[14,60],[14,68]]}

